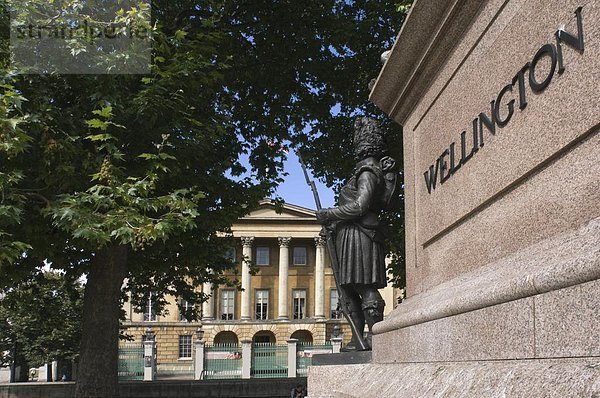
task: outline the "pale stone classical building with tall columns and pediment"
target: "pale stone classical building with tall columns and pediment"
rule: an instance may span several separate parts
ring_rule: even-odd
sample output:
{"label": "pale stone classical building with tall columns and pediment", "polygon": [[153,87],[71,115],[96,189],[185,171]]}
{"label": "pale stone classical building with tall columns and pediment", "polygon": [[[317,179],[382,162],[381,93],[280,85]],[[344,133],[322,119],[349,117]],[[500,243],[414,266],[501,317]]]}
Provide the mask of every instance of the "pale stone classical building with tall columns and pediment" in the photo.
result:
{"label": "pale stone classical building with tall columns and pediment", "polygon": [[[289,338],[324,344],[335,325],[345,341],[351,332],[338,311],[338,294],[321,226],[315,212],[291,204],[281,211],[270,200],[232,226],[237,246],[232,256],[241,275],[242,291],[205,284],[210,299],[202,305],[202,320],[188,322],[172,298],[168,315],[152,312],[151,300],[144,313],[126,304],[128,334],[141,341],[151,327],[156,334],[157,362],[191,361],[193,334],[201,325],[208,344],[242,340],[284,344]],[[249,272],[250,260],[258,270]],[[233,274],[232,274],[233,275]],[[384,289],[387,306],[393,307],[393,291]]]}

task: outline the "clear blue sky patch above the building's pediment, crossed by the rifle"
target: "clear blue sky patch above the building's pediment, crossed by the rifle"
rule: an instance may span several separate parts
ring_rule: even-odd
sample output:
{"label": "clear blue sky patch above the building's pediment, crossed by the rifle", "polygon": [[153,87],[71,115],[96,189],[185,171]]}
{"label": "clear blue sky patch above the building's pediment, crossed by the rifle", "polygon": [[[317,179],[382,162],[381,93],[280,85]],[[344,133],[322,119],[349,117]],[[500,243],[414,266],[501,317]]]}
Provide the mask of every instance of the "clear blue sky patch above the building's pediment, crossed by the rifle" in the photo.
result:
{"label": "clear blue sky patch above the building's pediment, crossed by the rifle", "polygon": [[[285,177],[285,181],[278,187],[277,194],[281,196],[286,203],[315,209],[315,200],[310,187],[306,184],[302,167],[298,161],[298,157],[293,151],[287,155],[288,159],[284,164],[285,171],[289,174]],[[327,188],[324,184],[315,180],[310,174],[310,177],[317,185],[317,191],[321,198],[323,207],[332,207],[334,205],[333,190]]]}

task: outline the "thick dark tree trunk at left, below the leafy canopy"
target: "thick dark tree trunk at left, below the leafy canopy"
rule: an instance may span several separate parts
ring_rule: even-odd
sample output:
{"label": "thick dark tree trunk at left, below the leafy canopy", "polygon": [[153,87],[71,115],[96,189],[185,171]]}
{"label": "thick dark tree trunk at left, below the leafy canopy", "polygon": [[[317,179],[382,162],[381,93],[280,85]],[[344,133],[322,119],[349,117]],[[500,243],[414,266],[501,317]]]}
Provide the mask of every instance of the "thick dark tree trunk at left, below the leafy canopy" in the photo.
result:
{"label": "thick dark tree trunk at left, below the leafy canopy", "polygon": [[85,286],[76,398],[119,396],[119,318],[127,247],[96,253]]}

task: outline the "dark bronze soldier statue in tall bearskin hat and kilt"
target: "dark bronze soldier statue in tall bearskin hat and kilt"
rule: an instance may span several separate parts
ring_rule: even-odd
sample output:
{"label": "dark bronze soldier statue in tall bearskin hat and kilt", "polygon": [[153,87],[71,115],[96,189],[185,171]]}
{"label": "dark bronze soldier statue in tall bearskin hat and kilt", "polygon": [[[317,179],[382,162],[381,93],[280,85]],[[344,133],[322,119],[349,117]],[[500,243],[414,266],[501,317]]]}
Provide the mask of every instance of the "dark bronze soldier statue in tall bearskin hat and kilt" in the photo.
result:
{"label": "dark bronze soldier statue in tall bearskin hat and kilt", "polygon": [[[383,320],[385,303],[378,289],[387,285],[384,231],[379,214],[396,187],[395,161],[385,156],[384,134],[377,122],[359,118],[354,124],[352,176],[342,188],[338,206],[317,211],[329,231],[332,263],[341,305],[353,326],[348,351],[370,349],[373,325]],[[335,252],[335,253],[332,253]],[[365,322],[369,327],[363,340]]]}

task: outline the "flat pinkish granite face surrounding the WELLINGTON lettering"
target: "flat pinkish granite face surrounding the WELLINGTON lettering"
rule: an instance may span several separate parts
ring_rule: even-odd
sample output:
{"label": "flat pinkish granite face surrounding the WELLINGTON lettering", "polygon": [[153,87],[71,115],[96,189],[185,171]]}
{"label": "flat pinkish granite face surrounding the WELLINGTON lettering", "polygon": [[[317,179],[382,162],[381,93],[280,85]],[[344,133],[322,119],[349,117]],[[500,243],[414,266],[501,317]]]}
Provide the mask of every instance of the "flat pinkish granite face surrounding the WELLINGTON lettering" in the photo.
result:
{"label": "flat pinkish granite face surrounding the WELLINGTON lettering", "polygon": [[[527,62],[527,58],[530,60],[540,45],[552,42],[561,23],[573,31],[575,17],[572,14],[578,3],[552,3],[556,4],[547,5],[548,9],[558,11],[550,22],[536,8],[539,2],[525,2],[504,27],[504,35],[487,43],[487,51],[477,57],[472,54],[463,64],[460,73],[414,132],[415,170],[407,180],[411,180],[413,200],[417,203],[414,214],[409,216],[417,221],[415,230],[410,233],[415,234],[417,245],[423,247],[417,266],[431,265],[430,275],[423,275],[424,290],[443,280],[441,275],[446,269],[449,277],[456,275],[456,264],[461,271],[472,269],[467,266],[486,264],[535,239],[572,228],[586,216],[600,215],[594,206],[598,196],[589,192],[591,186],[600,184],[600,174],[593,164],[600,156],[597,141],[589,144],[595,151],[590,151],[587,159],[581,158],[591,164],[594,171],[588,170],[587,164],[574,161],[573,156],[564,155],[574,142],[590,134],[597,136],[600,123],[600,90],[596,88],[600,82],[593,73],[588,73],[600,70],[598,2],[588,3],[584,9],[587,28],[584,54],[569,53],[569,69],[556,75],[544,93],[529,93],[527,108],[516,111],[510,124],[498,129],[495,136],[488,135],[486,146],[469,163],[432,194],[425,189],[423,172],[451,142],[457,141],[461,131],[469,130],[473,118],[489,107],[489,102],[510,82],[520,65]],[[507,6],[504,12],[508,11]],[[531,34],[537,37],[530,37],[529,32],[535,32]],[[540,32],[546,36],[540,37]],[[510,57],[506,56],[507,52]],[[461,98],[459,104],[457,98]],[[413,118],[416,117],[415,114]],[[546,163],[561,154],[556,162]],[[579,160],[579,156],[577,158]],[[540,167],[544,180],[554,180],[551,185],[535,181],[539,175],[532,173]],[[509,198],[504,194],[525,184],[535,189],[525,187]],[[567,189],[567,186],[570,187]],[[549,192],[551,189],[558,189],[563,195]],[[496,207],[501,207],[501,211]],[[463,224],[466,225],[463,227]],[[469,236],[460,233],[449,236],[459,227],[463,227],[461,233],[470,231]],[[462,239],[457,240],[457,235]],[[478,255],[479,248],[469,250],[470,243],[473,246],[483,243],[488,248],[495,246],[496,252],[488,249]],[[441,246],[453,248],[454,254],[462,255],[466,262],[457,256],[436,258],[435,255],[444,253]],[[459,249],[467,249],[469,253],[456,253]],[[430,277],[436,279],[429,281]]]}

